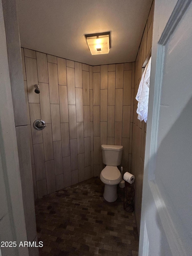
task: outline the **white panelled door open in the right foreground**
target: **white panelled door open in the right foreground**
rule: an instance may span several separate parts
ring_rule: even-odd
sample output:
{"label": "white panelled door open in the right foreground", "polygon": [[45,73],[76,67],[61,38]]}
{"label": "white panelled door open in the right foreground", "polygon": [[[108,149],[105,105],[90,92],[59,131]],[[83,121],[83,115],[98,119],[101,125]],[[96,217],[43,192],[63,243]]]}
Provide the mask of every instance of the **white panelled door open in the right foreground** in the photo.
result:
{"label": "white panelled door open in the right foreground", "polygon": [[192,3],[155,0],[139,255],[192,255]]}

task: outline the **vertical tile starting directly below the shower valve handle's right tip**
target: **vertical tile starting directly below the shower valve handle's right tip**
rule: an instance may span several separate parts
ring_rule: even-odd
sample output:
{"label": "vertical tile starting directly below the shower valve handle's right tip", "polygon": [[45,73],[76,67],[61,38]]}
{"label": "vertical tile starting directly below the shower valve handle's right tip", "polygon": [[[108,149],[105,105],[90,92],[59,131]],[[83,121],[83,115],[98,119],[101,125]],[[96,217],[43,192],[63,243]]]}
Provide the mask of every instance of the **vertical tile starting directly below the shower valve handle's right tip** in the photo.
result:
{"label": "vertical tile starting directly below the shower valve handle's right tip", "polygon": [[43,132],[43,146],[44,146],[44,156],[45,161],[54,159],[53,157],[53,142],[52,142],[52,129],[51,124],[46,124]]}

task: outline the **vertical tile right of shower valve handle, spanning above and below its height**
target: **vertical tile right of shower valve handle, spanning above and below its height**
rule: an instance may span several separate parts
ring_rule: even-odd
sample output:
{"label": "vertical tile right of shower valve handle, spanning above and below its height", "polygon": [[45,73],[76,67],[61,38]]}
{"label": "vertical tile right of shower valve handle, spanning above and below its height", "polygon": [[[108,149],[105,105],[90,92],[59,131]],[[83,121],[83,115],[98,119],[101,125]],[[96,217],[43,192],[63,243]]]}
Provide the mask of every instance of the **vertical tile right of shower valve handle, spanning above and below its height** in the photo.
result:
{"label": "vertical tile right of shower valve handle, spanning above and below its height", "polygon": [[51,106],[51,124],[53,141],[61,140],[61,124],[59,104],[50,104]]}

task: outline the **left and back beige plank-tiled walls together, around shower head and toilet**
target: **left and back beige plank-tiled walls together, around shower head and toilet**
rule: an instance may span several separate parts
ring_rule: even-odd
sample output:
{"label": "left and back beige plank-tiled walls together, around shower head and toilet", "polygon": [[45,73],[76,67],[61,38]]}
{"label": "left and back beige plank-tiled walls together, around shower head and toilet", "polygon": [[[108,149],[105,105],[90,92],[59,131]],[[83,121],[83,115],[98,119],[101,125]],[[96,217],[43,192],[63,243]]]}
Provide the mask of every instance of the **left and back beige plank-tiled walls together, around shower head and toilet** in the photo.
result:
{"label": "left and back beige plank-tiled walls together, around shower head and toilet", "polygon": [[[99,176],[101,144],[122,145],[130,169],[134,62],[89,66],[21,51],[35,198]],[[37,131],[40,118],[47,127]]]}

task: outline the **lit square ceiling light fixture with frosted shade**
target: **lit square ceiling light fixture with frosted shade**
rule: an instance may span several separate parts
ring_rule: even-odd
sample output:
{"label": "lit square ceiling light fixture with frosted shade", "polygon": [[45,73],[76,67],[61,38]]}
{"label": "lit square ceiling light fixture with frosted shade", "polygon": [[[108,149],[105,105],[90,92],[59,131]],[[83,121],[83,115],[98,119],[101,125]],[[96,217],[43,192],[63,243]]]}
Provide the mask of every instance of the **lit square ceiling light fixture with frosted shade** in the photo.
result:
{"label": "lit square ceiling light fixture with frosted shade", "polygon": [[106,54],[110,50],[110,32],[85,35],[92,55]]}

